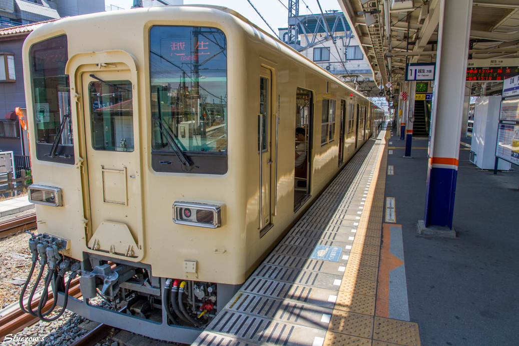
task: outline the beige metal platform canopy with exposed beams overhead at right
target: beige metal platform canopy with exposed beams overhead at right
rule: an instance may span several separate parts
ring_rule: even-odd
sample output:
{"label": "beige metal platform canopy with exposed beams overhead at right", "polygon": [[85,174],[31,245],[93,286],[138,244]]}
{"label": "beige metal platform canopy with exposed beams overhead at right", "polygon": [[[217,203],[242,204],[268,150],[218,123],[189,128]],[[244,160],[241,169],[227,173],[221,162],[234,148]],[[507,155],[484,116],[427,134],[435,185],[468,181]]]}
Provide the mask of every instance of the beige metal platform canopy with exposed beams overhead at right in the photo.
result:
{"label": "beige metal platform canopy with exposed beams overhead at right", "polygon": [[[436,60],[440,1],[338,0],[378,85],[402,81],[406,62]],[[519,2],[474,0],[467,58],[519,58],[518,52]]]}

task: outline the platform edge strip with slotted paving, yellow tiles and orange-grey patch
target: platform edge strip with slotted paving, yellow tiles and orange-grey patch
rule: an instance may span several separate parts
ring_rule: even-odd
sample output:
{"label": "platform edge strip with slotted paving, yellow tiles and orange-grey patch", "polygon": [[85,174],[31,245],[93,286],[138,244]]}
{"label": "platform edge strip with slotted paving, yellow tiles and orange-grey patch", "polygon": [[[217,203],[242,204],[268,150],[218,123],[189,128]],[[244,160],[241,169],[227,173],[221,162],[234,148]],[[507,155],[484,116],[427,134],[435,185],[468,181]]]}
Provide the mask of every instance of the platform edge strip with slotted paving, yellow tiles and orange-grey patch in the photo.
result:
{"label": "platform edge strip with slotted paving, yellow tiles and orange-grey patch", "polygon": [[420,345],[402,228],[383,224],[389,136],[363,145],[193,345]]}

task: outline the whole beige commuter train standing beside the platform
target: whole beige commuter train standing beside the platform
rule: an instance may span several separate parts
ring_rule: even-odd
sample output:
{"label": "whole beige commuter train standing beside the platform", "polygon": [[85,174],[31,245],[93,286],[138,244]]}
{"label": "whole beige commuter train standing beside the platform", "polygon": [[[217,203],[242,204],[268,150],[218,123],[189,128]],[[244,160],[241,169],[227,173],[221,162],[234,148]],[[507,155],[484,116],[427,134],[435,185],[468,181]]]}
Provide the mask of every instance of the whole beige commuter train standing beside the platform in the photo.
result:
{"label": "whole beige commuter train standing beside the platform", "polygon": [[196,338],[384,114],[221,7],[61,19],[23,57],[46,282],[163,340]]}

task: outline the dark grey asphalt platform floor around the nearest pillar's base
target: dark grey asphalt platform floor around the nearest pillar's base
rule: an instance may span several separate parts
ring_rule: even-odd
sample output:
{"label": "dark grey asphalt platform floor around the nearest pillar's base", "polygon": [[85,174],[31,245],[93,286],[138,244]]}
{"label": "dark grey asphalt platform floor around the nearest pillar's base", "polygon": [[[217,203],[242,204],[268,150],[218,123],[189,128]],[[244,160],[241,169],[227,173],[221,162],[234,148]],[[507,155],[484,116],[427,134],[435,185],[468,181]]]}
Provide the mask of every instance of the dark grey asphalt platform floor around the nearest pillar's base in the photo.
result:
{"label": "dark grey asphalt platform floor around the nearest pillar's base", "polygon": [[469,161],[471,137],[461,138],[454,204],[456,238],[421,236],[428,140],[388,140],[386,197],[394,198],[402,227],[409,317],[422,345],[517,345],[519,340],[519,166],[477,168]]}

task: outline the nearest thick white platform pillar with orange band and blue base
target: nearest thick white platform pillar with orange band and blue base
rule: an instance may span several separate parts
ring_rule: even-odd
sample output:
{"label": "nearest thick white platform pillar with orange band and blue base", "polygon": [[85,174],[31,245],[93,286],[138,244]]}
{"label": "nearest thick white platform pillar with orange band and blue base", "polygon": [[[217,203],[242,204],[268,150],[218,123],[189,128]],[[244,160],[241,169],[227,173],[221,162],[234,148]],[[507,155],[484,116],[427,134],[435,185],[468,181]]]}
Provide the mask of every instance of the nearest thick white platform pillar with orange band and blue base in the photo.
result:
{"label": "nearest thick white platform pillar with orange band and blue base", "polygon": [[472,0],[439,0],[424,223],[452,230]]}

